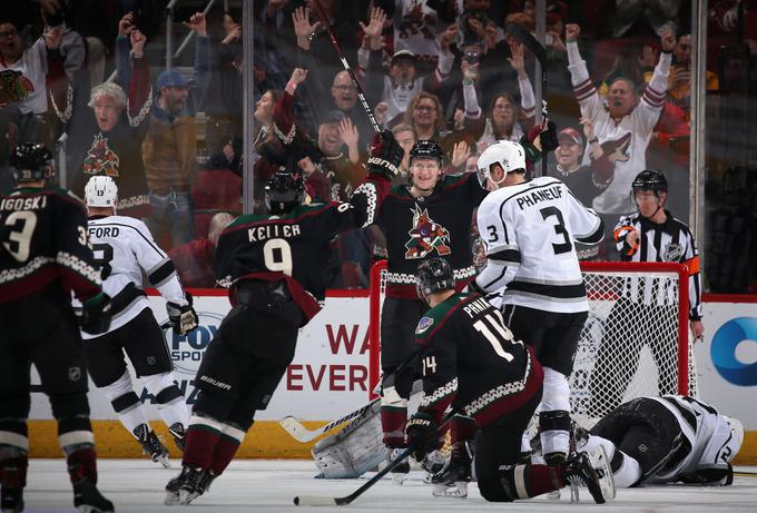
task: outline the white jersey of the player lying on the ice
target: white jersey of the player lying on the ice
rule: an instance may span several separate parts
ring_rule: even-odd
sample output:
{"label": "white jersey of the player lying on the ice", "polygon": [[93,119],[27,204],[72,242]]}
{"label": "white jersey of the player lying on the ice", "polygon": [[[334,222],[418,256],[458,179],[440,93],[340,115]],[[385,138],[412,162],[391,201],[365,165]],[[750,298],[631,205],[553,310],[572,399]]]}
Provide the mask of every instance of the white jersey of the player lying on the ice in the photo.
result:
{"label": "white jersey of the player lying on the ice", "polygon": [[728,463],[740,448],[740,441],[734,438],[728,422],[717,410],[701,401],[680,395],[650,398],[662,404],[676,416],[691,450],[675,466],[669,464],[646,482],[671,482],[686,476],[695,477],[697,474],[717,475],[712,471],[728,468]]}

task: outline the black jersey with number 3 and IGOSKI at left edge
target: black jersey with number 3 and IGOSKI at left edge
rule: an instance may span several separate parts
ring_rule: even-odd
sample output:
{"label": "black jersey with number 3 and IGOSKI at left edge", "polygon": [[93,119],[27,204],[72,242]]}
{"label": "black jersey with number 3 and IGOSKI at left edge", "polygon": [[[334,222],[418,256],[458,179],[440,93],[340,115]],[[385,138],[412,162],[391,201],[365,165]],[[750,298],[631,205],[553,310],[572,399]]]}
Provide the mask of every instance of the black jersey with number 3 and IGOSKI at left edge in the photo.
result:
{"label": "black jersey with number 3 and IGOSKI at left edge", "polygon": [[67,190],[26,187],[0,196],[0,303],[57,279],[80,299],[100,292],[85,208]]}

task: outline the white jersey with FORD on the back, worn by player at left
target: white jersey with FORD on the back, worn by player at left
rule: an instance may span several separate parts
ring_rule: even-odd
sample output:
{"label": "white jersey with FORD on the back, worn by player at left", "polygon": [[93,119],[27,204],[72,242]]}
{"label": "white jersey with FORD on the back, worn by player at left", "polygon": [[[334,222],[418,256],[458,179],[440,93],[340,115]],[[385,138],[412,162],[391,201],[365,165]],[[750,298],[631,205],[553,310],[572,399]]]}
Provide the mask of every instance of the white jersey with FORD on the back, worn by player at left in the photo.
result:
{"label": "white jersey with FORD on the back, worn by player at left", "polygon": [[[95,216],[88,226],[92,253],[101,266],[102,292],[110,296],[112,305],[108,333],[150,306],[142,289],[145,275],[167,302],[187,304],[174,263],[155,243],[145,223],[125,216]],[[82,338],[96,336],[102,334],[81,332]]]}

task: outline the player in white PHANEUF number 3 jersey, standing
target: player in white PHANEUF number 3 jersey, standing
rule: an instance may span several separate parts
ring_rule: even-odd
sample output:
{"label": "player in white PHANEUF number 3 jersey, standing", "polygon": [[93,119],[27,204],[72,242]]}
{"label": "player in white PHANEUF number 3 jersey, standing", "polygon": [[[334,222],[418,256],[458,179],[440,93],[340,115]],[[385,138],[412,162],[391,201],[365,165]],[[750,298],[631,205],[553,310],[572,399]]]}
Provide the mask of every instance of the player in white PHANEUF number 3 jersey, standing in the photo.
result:
{"label": "player in white PHANEUF number 3 jersey, standing", "polygon": [[527,180],[524,157],[512,141],[499,141],[479,157],[481,179],[492,193],[478,213],[488,265],[474,286],[502,292],[508,326],[544,366],[539,425],[544,458],[554,464],[568,452],[568,376],[589,310],[573,243],[600,241],[603,225],[562,181]]}

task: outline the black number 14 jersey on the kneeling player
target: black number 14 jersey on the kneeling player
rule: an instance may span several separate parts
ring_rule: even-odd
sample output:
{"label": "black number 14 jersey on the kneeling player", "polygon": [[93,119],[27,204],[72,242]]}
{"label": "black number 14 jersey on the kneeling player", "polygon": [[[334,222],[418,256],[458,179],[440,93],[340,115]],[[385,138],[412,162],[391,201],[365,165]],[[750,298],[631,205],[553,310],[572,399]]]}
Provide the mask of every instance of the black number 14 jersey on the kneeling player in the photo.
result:
{"label": "black number 14 jersey on the kneeling player", "polygon": [[423,397],[420,410],[441,421],[453,401],[479,427],[528,402],[543,371],[532,349],[513,338],[502,313],[478,294],[456,294],[417,324]]}

